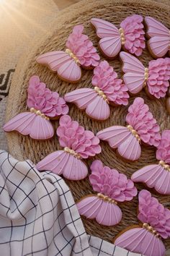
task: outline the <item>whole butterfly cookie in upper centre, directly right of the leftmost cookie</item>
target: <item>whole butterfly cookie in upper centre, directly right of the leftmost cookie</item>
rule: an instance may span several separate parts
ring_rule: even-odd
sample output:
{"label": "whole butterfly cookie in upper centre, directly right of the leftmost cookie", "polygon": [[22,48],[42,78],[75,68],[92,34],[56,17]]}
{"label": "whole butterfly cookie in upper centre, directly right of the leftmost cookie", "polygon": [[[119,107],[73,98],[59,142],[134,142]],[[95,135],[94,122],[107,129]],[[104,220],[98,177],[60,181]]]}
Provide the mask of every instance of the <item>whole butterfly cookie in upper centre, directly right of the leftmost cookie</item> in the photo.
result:
{"label": "whole butterfly cookie in upper centre, directly right of the leftmost cookie", "polygon": [[86,109],[86,114],[97,120],[109,117],[109,103],[115,106],[128,105],[128,88],[117,78],[117,73],[107,61],[101,61],[95,67],[92,85],[94,89],[82,88],[66,93],[65,101],[75,103],[80,109]]}

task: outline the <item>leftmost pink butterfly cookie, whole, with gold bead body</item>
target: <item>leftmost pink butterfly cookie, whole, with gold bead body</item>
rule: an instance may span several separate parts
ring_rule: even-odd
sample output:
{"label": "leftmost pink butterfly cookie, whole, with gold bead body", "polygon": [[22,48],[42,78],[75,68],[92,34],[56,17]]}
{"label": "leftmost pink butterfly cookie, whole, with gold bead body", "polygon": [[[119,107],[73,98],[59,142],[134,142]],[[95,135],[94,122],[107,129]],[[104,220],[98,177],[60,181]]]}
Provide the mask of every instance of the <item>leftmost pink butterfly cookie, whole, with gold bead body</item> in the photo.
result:
{"label": "leftmost pink butterfly cookie, whole, with gold bead body", "polygon": [[30,135],[35,140],[48,140],[54,135],[50,119],[68,114],[66,101],[58,93],[46,88],[40,78],[32,76],[27,89],[27,106],[30,112],[14,116],[4,124],[5,132],[17,131],[22,135]]}

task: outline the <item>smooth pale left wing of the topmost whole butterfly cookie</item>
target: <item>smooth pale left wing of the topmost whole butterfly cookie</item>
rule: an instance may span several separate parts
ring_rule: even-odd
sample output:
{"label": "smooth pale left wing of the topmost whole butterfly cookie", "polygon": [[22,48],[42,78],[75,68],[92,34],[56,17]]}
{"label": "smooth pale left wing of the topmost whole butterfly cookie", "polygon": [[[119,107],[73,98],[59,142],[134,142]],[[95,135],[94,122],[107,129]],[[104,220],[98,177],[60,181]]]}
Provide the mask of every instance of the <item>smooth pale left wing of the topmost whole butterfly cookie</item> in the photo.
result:
{"label": "smooth pale left wing of the topmost whole butterfly cookie", "polygon": [[102,38],[99,40],[99,46],[109,58],[115,58],[121,49],[121,38],[117,27],[106,20],[92,18],[91,24],[97,30],[97,36]]}

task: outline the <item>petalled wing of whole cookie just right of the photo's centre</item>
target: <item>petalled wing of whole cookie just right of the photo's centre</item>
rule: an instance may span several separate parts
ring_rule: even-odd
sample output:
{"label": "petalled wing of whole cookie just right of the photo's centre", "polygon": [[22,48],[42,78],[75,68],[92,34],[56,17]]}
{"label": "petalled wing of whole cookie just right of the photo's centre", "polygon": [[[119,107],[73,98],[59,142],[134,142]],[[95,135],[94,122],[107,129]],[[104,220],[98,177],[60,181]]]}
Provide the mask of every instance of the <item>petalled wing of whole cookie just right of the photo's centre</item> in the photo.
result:
{"label": "petalled wing of whole cookie just right of the photo's centre", "polygon": [[160,128],[143,98],[135,98],[133,104],[128,108],[126,121],[138,132],[143,142],[158,147],[161,140]]}

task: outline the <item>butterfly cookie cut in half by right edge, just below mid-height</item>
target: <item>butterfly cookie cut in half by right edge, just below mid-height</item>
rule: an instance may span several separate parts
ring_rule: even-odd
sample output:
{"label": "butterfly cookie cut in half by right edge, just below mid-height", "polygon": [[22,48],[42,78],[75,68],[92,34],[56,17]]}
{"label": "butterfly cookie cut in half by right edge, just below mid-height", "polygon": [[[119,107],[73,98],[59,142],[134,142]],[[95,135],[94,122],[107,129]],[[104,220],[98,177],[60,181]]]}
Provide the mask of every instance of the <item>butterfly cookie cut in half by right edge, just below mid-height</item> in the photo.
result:
{"label": "butterfly cookie cut in half by right edge, just below mid-height", "polygon": [[164,130],[156,150],[158,164],[151,164],[135,171],[133,182],[143,182],[148,187],[154,187],[163,195],[170,195],[170,130]]}

